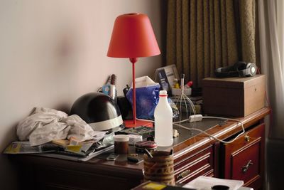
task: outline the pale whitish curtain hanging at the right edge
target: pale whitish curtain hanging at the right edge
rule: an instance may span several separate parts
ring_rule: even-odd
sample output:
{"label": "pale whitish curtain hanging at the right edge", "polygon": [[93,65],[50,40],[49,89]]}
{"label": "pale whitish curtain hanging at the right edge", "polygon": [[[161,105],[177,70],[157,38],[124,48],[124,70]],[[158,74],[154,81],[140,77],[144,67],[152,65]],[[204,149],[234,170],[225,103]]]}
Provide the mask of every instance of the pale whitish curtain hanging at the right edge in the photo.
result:
{"label": "pale whitish curtain hanging at the right edge", "polygon": [[284,139],[284,1],[258,1],[261,70],[272,107],[270,137]]}

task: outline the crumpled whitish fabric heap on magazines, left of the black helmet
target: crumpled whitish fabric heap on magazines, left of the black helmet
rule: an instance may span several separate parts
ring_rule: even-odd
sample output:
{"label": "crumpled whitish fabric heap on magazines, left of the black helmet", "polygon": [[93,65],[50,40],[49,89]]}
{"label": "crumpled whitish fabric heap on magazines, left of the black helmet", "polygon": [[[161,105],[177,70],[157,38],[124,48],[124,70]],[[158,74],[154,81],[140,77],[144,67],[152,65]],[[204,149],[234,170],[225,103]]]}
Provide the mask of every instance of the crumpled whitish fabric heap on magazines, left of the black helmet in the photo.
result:
{"label": "crumpled whitish fabric heap on magazines, left of the black helmet", "polygon": [[16,131],[18,139],[29,139],[32,146],[70,137],[82,142],[95,136],[92,127],[78,115],[68,116],[45,107],[36,107],[30,116],[18,123]]}

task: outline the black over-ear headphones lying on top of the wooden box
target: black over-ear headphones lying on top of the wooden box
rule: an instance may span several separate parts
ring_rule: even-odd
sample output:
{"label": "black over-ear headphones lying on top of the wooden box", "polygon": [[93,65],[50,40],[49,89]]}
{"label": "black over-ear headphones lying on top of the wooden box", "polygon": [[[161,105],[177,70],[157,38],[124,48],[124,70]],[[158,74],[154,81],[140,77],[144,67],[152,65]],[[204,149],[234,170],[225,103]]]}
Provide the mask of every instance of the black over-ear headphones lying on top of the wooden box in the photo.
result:
{"label": "black over-ear headphones lying on top of the wooden box", "polygon": [[217,68],[215,75],[219,78],[251,77],[256,75],[256,64],[239,61],[229,67]]}

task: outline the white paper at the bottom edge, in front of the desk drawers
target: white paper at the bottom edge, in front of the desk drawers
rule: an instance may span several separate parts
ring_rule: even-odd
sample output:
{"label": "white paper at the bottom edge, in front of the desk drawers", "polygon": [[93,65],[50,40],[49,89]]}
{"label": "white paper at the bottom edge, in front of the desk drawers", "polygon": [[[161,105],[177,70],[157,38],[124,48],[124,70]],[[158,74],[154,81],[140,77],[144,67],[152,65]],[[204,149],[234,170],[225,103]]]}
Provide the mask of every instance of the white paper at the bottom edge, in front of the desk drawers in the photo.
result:
{"label": "white paper at the bottom edge, in front of the desk drawers", "polygon": [[185,188],[192,188],[197,190],[211,190],[214,185],[229,186],[230,190],[239,189],[244,184],[244,181],[231,179],[218,179],[209,176],[199,176],[189,183],[185,184]]}

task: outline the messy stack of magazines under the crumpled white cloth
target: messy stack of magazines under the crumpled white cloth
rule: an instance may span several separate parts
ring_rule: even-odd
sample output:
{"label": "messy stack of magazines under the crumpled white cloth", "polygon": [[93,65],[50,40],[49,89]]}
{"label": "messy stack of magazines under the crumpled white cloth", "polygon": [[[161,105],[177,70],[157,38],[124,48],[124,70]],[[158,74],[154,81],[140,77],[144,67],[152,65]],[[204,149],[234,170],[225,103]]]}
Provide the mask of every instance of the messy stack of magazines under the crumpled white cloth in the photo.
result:
{"label": "messy stack of magazines under the crumpled white cloth", "polygon": [[113,149],[113,135],[113,133],[105,134],[101,139],[91,139],[79,144],[70,144],[68,139],[55,140],[38,146],[31,146],[28,141],[16,141],[6,147],[4,154],[33,154],[43,157],[87,161]]}

